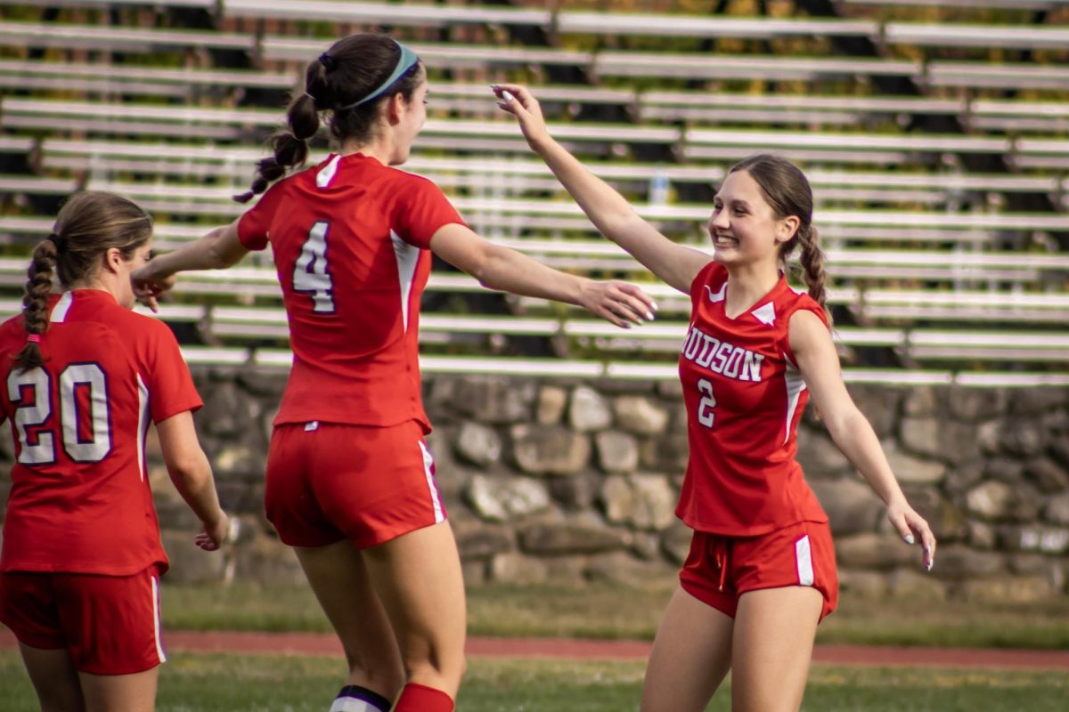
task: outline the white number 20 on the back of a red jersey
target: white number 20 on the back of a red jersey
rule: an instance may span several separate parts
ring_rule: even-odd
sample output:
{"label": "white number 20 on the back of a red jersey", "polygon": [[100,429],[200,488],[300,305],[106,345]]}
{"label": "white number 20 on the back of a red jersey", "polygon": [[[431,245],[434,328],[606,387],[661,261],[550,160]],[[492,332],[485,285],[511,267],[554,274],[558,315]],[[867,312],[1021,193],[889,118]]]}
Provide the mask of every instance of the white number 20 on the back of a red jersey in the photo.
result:
{"label": "white number 20 on the back of a red jersey", "polygon": [[[24,402],[24,386],[32,386],[33,400]],[[89,426],[86,432],[79,423],[84,417],[79,408],[79,390],[88,391]],[[56,436],[44,424],[52,414],[52,382],[42,368],[7,374],[7,397],[17,407],[15,429],[18,430],[18,461],[22,464],[56,462]],[[42,427],[36,443],[30,442],[28,428]],[[90,437],[86,437],[86,436]],[[99,462],[111,452],[111,428],[108,414],[108,386],[104,370],[95,363],[73,363],[60,374],[60,436],[63,450],[75,462]]]}

